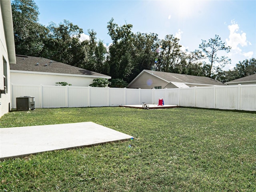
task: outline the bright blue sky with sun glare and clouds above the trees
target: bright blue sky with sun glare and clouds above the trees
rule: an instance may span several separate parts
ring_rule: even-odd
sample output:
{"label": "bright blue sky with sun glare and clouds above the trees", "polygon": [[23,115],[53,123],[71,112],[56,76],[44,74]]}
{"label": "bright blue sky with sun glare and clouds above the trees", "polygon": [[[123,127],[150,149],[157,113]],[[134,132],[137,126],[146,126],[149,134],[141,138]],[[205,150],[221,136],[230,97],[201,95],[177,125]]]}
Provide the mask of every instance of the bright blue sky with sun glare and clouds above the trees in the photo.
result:
{"label": "bright blue sky with sun glare and clouds above the trees", "polygon": [[179,38],[183,49],[194,51],[202,40],[220,36],[233,69],[239,61],[256,58],[256,0],[34,0],[39,23],[60,24],[68,20],[84,31],[94,30],[98,40],[112,43],[107,25],[111,18],[118,26],[132,24],[132,32],[168,34]]}

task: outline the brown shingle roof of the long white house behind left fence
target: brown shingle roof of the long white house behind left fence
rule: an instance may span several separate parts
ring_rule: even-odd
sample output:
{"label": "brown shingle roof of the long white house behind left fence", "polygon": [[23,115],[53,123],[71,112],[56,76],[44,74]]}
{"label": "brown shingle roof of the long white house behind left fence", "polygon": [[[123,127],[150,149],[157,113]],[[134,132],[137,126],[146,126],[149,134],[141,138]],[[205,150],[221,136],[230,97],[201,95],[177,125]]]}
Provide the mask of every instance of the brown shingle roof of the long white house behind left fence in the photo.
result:
{"label": "brown shingle roof of the long white house behind left fence", "polygon": [[10,64],[10,70],[57,73],[57,74],[74,74],[94,76],[97,78],[108,78],[110,76],[78,68],[61,62],[53,61],[42,57],[16,55],[16,64]]}

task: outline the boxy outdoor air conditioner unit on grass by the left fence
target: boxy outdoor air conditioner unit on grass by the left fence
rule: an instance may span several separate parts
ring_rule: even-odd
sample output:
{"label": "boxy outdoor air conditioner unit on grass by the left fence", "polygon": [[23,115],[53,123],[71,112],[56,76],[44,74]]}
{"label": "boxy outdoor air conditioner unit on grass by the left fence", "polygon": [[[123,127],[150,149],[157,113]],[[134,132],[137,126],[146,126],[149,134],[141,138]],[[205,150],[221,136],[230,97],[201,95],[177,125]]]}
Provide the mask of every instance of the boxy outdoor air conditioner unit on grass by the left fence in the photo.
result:
{"label": "boxy outdoor air conditioner unit on grass by the left fence", "polygon": [[34,110],[35,98],[32,96],[16,97],[16,109],[17,110]]}

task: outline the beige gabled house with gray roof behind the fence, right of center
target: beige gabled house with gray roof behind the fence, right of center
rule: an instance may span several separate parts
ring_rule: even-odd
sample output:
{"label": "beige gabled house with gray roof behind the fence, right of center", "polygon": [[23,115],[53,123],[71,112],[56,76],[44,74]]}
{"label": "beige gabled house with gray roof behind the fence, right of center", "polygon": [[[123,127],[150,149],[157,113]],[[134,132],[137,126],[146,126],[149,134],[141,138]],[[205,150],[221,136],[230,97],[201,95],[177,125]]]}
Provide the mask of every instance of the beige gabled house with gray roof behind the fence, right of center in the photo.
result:
{"label": "beige gabled house with gray roof behind the fence, right of center", "polygon": [[164,89],[214,85],[225,84],[208,77],[143,70],[134,80],[132,80],[132,82],[130,82],[130,84],[128,84],[128,87],[141,89]]}

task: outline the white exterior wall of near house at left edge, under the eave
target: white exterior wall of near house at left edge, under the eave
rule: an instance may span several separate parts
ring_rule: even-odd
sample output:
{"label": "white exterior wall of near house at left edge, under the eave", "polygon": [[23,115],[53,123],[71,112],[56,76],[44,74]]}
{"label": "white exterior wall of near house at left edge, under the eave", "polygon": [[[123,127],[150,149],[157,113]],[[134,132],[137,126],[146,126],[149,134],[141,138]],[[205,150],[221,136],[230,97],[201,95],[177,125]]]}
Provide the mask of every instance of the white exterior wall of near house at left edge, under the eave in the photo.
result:
{"label": "white exterior wall of near house at left edge, under the eave", "polygon": [[10,68],[9,68],[9,59],[8,59],[8,50],[6,45],[6,37],[4,33],[4,23],[1,13],[1,4],[0,4],[0,89],[4,89],[4,66],[3,58],[7,62],[7,78],[8,78],[8,92],[6,94],[0,94],[0,117],[6,114],[9,111],[9,104],[11,102],[10,97]]}

